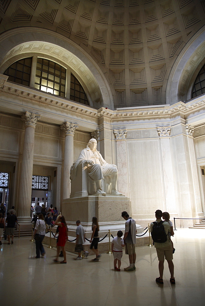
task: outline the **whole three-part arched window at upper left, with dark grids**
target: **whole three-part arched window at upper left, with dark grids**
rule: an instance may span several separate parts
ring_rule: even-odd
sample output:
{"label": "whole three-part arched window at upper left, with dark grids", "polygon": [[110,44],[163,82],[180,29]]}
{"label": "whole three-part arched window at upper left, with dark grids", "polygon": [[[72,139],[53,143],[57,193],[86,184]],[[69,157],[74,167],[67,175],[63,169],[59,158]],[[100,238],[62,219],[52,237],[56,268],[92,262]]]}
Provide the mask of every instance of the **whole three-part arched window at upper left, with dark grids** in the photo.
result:
{"label": "whole three-part arched window at upper left, with dark grids", "polygon": [[[33,67],[34,69],[31,69],[32,59],[32,57],[23,58],[10,65],[10,67],[8,67],[4,72],[5,75],[9,76],[8,80],[25,86],[34,87],[41,91],[49,92],[63,98],[70,98],[75,102],[89,105],[87,95],[82,85],[72,73],[70,82],[70,97],[66,97],[67,70],[61,65],[45,58],[36,58],[36,60],[33,61],[36,63],[36,66]],[[33,71],[32,74],[34,74],[32,77],[31,71]],[[30,80],[33,82],[32,84],[30,84]]]}

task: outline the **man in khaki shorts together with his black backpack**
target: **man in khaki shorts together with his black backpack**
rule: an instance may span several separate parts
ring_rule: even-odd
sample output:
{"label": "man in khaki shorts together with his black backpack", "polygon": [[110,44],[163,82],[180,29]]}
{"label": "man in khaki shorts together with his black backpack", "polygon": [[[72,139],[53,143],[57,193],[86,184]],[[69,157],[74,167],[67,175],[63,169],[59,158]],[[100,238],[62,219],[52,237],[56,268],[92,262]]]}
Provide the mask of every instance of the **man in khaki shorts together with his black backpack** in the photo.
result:
{"label": "man in khaki shorts together with his black backpack", "polygon": [[163,282],[163,271],[164,271],[164,257],[168,262],[169,271],[171,274],[170,283],[175,284],[174,278],[174,264],[173,259],[173,248],[172,243],[169,239],[168,232],[171,232],[170,225],[168,222],[162,221],[162,211],[157,209],[155,211],[156,221],[150,224],[150,232],[152,239],[154,241],[154,246],[157,251],[157,257],[159,260],[159,272],[160,277],[156,278],[156,282],[159,284],[164,284]]}

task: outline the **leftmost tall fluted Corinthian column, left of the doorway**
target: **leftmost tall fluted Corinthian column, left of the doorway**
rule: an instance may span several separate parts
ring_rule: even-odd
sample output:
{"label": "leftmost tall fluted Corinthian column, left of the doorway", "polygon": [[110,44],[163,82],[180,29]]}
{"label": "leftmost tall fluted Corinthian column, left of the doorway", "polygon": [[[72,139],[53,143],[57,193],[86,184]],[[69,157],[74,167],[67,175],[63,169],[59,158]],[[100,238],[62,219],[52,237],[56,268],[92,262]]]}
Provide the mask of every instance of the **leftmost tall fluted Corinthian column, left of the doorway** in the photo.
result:
{"label": "leftmost tall fluted Corinthian column, left of the doorway", "polygon": [[21,164],[18,219],[19,221],[26,222],[30,221],[31,213],[34,132],[37,120],[41,116],[25,112],[21,118],[25,122],[25,134]]}

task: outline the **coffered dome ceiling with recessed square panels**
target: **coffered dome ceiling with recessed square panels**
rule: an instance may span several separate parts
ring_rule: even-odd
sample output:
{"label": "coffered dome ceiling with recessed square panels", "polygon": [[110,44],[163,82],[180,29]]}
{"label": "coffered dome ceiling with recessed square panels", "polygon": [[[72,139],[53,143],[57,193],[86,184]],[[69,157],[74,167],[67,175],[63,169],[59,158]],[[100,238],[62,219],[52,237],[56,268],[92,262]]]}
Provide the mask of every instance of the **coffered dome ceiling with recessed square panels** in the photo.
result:
{"label": "coffered dome ceiling with recessed square panels", "polygon": [[[204,16],[203,0],[3,0],[0,33],[19,27],[57,32],[99,66],[114,107],[158,105],[168,103],[171,69]],[[205,48],[200,54],[195,69]]]}

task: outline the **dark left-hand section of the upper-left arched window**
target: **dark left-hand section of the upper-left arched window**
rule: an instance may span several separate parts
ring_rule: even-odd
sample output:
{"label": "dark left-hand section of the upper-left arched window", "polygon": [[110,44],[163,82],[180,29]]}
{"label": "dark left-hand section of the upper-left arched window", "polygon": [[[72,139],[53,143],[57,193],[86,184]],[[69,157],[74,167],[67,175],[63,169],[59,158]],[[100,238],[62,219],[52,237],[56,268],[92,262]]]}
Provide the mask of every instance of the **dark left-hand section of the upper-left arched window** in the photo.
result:
{"label": "dark left-hand section of the upper-left arched window", "polygon": [[25,86],[29,86],[30,76],[31,76],[31,58],[23,58],[12,65],[10,65],[6,71],[5,75],[9,76],[8,80]]}

